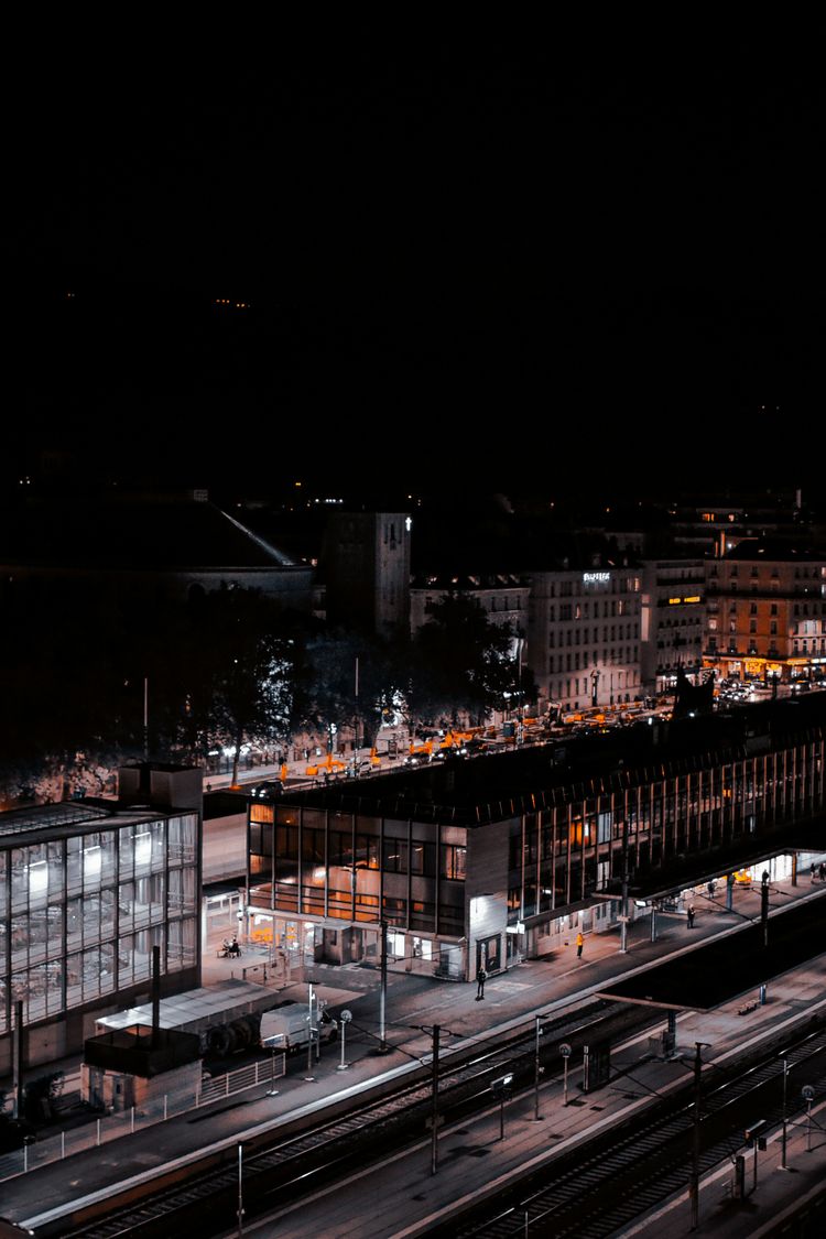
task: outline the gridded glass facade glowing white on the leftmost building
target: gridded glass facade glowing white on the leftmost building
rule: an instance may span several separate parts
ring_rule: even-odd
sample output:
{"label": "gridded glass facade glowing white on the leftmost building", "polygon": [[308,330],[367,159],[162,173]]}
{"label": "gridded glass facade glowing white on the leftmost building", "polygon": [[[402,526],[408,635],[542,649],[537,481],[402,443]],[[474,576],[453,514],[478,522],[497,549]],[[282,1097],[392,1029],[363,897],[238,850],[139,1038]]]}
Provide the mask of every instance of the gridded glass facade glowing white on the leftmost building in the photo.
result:
{"label": "gridded glass facade glowing white on the leftmost building", "polygon": [[198,815],[77,817],[0,818],[0,1033],[19,1001],[31,1025],[147,981],[154,945],[162,973],[197,964]]}

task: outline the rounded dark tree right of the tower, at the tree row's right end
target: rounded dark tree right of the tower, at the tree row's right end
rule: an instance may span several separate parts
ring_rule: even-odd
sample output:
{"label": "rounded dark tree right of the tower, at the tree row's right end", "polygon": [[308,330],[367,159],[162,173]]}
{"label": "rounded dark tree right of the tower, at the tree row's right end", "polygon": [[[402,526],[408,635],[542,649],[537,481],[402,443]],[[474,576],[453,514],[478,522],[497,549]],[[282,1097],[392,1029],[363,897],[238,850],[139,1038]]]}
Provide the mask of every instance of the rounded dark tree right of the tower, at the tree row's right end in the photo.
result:
{"label": "rounded dark tree right of the tower, at the tree row's right end", "polygon": [[433,605],[411,650],[409,709],[412,719],[456,725],[482,722],[502,709],[516,684],[510,626],[490,623],[476,598],[459,591]]}

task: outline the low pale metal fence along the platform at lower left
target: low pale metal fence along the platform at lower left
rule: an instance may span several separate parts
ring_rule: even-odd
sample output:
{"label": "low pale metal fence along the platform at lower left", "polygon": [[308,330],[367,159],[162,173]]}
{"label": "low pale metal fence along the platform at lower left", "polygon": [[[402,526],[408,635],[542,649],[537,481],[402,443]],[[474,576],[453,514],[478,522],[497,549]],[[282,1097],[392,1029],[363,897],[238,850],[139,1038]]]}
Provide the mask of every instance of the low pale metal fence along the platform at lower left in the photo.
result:
{"label": "low pale metal fence along the platform at lower left", "polygon": [[211,1105],[259,1084],[272,1087],[272,1083],[285,1074],[285,1064],[286,1054],[274,1053],[269,1059],[256,1059],[224,1075],[204,1075],[196,1092],[182,1089],[165,1093],[163,1097],[145,1105],[102,1115],[83,1126],[61,1131],[46,1140],[37,1140],[32,1145],[4,1154],[0,1156],[0,1181],[26,1175],[40,1166],[71,1157],[72,1154],[109,1144],[110,1140],[120,1140],[121,1136],[130,1136],[135,1131],[142,1131],[144,1127],[187,1114],[198,1106]]}

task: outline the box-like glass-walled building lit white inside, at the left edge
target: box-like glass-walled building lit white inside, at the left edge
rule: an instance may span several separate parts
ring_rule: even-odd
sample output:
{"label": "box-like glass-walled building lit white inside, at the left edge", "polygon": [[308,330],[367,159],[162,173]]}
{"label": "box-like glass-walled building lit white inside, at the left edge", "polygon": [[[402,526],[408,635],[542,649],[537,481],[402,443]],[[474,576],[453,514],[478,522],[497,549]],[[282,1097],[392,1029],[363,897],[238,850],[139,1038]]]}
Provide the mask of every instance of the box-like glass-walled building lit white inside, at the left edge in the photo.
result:
{"label": "box-like glass-walled building lit white inside, at the left edge", "polygon": [[82,1048],[104,1014],[201,984],[202,772],[140,764],[119,799],[0,814],[0,1074]]}

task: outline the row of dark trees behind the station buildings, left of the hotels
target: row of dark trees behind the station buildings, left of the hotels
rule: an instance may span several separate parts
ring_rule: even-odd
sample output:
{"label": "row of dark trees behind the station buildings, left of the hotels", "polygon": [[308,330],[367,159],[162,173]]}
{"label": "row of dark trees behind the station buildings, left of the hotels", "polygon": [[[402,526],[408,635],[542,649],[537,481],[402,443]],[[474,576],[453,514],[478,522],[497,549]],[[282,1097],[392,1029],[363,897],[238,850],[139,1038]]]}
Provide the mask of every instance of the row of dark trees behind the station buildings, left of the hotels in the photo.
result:
{"label": "row of dark trees behind the station buildings, left of the hotels", "polygon": [[513,634],[461,593],[435,605],[414,641],[333,631],[233,585],[149,617],[136,607],[68,608],[58,623],[6,613],[0,629],[7,802],[56,798],[56,769],[63,794],[78,788],[78,768],[79,789],[94,790],[100,771],[145,751],[204,761],[219,747],[238,758],[245,743],[286,750],[297,733],[333,727],[369,746],[390,712],[411,731],[482,722],[519,688]]}

